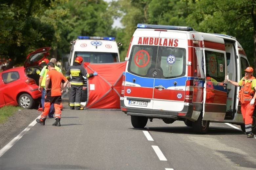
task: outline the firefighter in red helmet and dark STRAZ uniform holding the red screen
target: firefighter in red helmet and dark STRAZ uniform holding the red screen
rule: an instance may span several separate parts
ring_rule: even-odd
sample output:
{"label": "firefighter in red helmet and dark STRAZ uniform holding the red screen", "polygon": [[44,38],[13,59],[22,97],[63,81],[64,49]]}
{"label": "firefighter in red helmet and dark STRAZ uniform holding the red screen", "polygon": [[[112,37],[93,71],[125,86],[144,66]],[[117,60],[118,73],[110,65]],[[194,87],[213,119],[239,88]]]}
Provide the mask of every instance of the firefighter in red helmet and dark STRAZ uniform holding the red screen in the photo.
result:
{"label": "firefighter in red helmet and dark STRAZ uniform holding the red screen", "polygon": [[[97,72],[94,73],[86,73],[83,66],[81,66],[83,62],[83,58],[81,56],[77,56],[75,58],[75,63],[73,66],[67,70],[65,76],[71,82],[71,89],[70,89],[70,99],[69,99],[69,106],[71,110],[82,110],[83,108],[80,107],[81,97],[82,97],[82,90],[84,80],[86,78],[96,76]],[[72,78],[70,78],[70,75]]]}

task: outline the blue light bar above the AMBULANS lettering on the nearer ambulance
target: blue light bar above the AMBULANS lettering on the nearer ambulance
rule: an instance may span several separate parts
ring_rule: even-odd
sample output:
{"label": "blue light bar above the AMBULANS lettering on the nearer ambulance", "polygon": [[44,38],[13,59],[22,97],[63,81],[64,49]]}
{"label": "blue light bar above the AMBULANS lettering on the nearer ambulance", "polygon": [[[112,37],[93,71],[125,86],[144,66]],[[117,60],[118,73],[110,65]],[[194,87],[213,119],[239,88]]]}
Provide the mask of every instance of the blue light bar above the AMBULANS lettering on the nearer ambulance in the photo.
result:
{"label": "blue light bar above the AMBULANS lettering on the nearer ambulance", "polygon": [[153,24],[142,24],[142,23],[138,23],[137,28],[195,31],[193,28],[189,26],[153,25]]}

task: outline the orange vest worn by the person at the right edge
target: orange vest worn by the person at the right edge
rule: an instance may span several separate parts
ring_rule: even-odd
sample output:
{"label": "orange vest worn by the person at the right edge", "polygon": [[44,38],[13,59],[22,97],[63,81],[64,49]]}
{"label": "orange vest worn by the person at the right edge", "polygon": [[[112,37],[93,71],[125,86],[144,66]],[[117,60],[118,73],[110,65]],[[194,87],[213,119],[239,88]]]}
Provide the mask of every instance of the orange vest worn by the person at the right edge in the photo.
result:
{"label": "orange vest worn by the person at the right edge", "polygon": [[251,89],[251,83],[253,79],[255,79],[255,77],[251,76],[248,82],[245,84],[245,77],[243,77],[242,86],[239,90],[239,101],[242,104],[249,103],[253,98],[255,93],[255,91]]}

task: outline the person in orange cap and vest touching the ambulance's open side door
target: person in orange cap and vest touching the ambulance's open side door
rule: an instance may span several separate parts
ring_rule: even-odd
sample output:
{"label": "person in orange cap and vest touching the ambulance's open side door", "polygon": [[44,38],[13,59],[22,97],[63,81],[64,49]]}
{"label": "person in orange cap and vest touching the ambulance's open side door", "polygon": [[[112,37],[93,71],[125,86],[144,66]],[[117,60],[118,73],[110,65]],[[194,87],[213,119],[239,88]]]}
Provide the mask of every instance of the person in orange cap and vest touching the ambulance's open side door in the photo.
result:
{"label": "person in orange cap and vest touching the ambulance's open side door", "polygon": [[245,122],[247,138],[253,138],[254,136],[252,132],[252,115],[255,107],[256,79],[252,76],[252,72],[253,69],[251,67],[247,67],[245,69],[245,77],[243,77],[239,82],[231,81],[229,80],[228,75],[226,76],[227,82],[230,82],[235,86],[241,86],[241,89],[239,90],[239,101],[241,102],[241,112]]}

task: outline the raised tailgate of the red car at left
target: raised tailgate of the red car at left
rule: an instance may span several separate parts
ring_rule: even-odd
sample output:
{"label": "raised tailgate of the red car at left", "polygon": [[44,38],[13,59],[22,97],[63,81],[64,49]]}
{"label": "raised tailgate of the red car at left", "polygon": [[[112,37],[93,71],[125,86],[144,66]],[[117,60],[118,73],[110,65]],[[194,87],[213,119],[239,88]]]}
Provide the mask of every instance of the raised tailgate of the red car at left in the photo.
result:
{"label": "raised tailgate of the red car at left", "polygon": [[39,65],[41,61],[43,61],[48,55],[50,55],[49,53],[50,50],[51,50],[51,47],[43,47],[28,54],[24,67],[27,68],[27,67]]}

